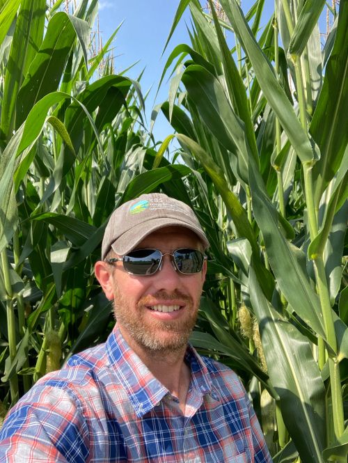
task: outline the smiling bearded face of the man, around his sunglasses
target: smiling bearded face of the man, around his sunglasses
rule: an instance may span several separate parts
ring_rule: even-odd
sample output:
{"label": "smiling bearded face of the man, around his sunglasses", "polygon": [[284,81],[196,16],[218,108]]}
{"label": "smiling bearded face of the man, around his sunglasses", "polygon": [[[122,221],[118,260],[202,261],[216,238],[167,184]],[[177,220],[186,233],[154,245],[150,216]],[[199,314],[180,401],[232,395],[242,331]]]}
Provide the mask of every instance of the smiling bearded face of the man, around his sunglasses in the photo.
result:
{"label": "smiling bearded face of the man, around his sunglasses", "polygon": [[[136,249],[200,249],[195,233],[182,227],[157,230]],[[157,352],[174,352],[187,345],[198,312],[205,280],[206,263],[199,274],[183,275],[164,256],[161,269],[152,276],[136,276],[117,262],[111,269],[113,308],[122,336],[131,347]]]}

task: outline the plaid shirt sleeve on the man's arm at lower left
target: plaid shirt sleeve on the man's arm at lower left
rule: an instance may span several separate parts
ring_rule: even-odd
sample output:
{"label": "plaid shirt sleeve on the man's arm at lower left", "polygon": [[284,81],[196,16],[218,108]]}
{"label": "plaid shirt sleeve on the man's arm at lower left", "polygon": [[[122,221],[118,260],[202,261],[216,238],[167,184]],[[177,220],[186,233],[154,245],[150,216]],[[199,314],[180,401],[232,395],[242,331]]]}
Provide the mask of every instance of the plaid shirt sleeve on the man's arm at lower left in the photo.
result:
{"label": "plaid shirt sleeve on the man's arm at lower left", "polygon": [[3,422],[0,463],[86,462],[88,434],[82,407],[72,391],[34,386]]}

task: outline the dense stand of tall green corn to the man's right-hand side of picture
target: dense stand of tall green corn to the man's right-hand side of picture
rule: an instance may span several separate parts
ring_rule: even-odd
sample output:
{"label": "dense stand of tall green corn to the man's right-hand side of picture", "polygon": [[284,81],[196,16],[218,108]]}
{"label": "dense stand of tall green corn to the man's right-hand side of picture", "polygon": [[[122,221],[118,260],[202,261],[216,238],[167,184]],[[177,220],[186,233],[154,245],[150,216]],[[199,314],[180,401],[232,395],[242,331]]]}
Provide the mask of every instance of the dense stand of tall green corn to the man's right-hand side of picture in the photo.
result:
{"label": "dense stand of tall green corn to the man's right-hand side of picture", "polygon": [[263,31],[263,0],[214,3],[180,1],[191,45],[162,75],[212,243],[192,341],[244,377],[275,462],[346,462],[348,3],[324,47],[324,1],[276,0]]}

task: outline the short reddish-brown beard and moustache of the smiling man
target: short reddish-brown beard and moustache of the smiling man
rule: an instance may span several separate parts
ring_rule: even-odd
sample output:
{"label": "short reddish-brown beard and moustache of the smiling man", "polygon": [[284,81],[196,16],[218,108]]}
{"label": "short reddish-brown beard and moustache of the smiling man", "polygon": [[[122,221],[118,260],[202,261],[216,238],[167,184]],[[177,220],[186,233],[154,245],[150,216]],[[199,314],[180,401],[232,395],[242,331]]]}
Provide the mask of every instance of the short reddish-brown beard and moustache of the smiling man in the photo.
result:
{"label": "short reddish-brown beard and moustache of the smiling man", "polygon": [[[143,296],[136,303],[136,309],[129,306],[129,301],[124,297],[118,288],[114,290],[113,313],[116,321],[144,350],[151,353],[171,353],[182,350],[187,346],[189,336],[196,324],[198,315],[198,304],[193,304],[193,299],[189,295],[175,290],[167,293],[164,290],[158,291],[153,296]],[[179,320],[162,321],[148,320],[147,311],[150,309],[150,301],[155,299],[168,300],[181,299],[185,301],[187,312],[185,317]],[[199,297],[197,298],[199,300]],[[180,309],[181,310],[181,309]]]}

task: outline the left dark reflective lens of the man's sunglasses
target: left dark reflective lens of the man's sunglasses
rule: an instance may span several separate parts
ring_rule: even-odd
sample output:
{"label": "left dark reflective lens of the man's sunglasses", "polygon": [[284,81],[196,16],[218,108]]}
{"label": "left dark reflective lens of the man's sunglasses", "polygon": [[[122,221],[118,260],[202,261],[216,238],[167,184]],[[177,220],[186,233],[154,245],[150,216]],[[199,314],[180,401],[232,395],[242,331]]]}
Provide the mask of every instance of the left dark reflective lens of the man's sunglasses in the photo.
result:
{"label": "left dark reflective lens of the man's sunglasses", "polygon": [[161,253],[157,249],[136,249],[123,257],[123,267],[134,275],[152,275],[160,262]]}

